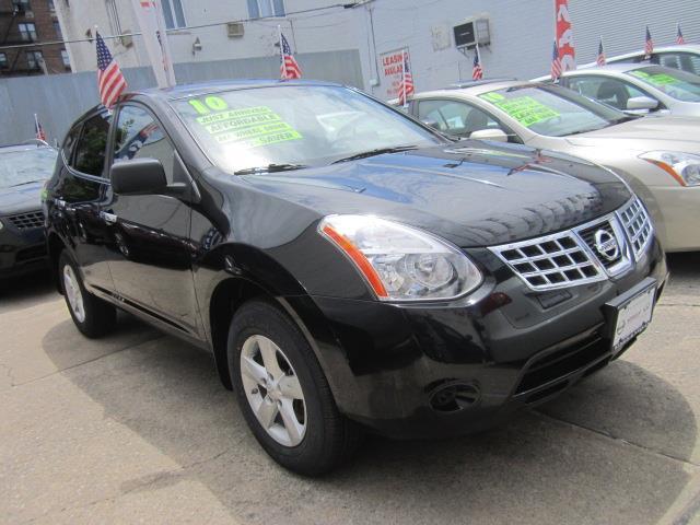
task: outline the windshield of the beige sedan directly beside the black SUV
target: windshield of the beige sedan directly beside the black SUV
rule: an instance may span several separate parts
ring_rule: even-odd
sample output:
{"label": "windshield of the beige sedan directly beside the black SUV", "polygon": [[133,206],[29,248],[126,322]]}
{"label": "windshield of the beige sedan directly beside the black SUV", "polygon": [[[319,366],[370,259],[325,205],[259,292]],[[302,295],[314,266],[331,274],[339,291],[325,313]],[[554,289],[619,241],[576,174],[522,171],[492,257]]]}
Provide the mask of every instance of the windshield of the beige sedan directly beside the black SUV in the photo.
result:
{"label": "windshield of the beige sedan directly beside the black SUV", "polygon": [[479,95],[538,135],[565,137],[607,128],[630,117],[556,85],[522,85]]}

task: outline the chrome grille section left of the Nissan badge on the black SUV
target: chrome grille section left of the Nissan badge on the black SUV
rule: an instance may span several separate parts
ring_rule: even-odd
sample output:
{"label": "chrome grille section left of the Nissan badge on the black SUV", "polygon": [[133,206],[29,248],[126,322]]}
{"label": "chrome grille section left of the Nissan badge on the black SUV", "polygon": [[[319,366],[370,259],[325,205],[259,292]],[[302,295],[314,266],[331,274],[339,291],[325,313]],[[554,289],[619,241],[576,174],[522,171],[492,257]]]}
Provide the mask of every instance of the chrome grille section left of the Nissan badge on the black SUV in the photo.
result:
{"label": "chrome grille section left of the Nissan badge on the black SUV", "polygon": [[533,290],[552,290],[606,279],[573,232],[490,248]]}

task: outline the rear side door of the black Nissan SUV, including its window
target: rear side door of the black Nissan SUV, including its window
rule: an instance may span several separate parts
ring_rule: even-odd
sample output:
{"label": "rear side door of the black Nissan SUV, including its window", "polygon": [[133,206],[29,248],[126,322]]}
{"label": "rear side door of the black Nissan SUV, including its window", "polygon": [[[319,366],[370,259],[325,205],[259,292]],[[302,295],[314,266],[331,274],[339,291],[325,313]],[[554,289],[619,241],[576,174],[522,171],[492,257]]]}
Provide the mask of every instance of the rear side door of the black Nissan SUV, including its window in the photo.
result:
{"label": "rear side door of the black Nissan SUV, including its window", "polygon": [[110,116],[89,115],[68,133],[59,158],[56,196],[50,202],[52,222],[68,242],[88,287],[113,291],[107,265],[107,232],[100,209],[107,196],[105,152]]}

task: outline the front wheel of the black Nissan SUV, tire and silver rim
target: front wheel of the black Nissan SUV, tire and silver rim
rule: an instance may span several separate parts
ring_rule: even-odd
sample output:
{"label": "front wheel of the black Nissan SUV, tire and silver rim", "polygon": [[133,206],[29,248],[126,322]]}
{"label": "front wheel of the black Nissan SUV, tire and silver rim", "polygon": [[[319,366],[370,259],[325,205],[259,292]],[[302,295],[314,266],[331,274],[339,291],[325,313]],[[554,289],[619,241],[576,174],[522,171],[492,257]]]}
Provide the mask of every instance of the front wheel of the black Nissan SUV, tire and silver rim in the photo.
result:
{"label": "front wheel of the black Nissan SUV, tire and silver rim", "polygon": [[[338,411],[314,352],[284,312],[265,301],[245,303],[231,323],[228,348],[243,416],[277,463],[304,476],[319,476],[352,455],[360,429]],[[277,364],[270,365],[272,354]],[[258,381],[262,371],[269,381]]]}

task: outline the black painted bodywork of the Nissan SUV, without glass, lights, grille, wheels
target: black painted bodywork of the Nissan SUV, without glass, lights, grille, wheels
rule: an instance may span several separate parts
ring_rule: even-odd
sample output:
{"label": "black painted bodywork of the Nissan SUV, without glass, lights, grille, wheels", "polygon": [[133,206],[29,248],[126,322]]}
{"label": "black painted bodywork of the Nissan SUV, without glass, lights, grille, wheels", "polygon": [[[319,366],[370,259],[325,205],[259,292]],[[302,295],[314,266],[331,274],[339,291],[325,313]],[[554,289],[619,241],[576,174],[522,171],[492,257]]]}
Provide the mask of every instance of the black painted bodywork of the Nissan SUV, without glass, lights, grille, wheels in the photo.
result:
{"label": "black painted bodywork of the Nissan SUV, without glass, lights, grille, wheels", "polygon": [[[520,145],[445,139],[431,149],[233,176],[212,165],[170,105],[233,89],[255,84],[127,98],[149,107],[171,138],[190,178],[186,196],[115,195],[108,173],[75,173],[63,155],[47,200],[54,260],[68,249],[91,292],[212,350],[226,385],[230,317],[246,298],[262,294],[304,334],[348,417],[394,436],[468,432],[560,393],[615,358],[604,337],[604,304],[649,276],[661,291],[666,266],[655,240],[620,278],[547,293],[527,289],[486,249],[621,207],[628,188],[596,165]],[[105,212],[117,222],[107,225]],[[456,301],[378,302],[317,233],[319,220],[332,213],[375,214],[440,235],[462,247],[485,280]],[[540,362],[547,355],[568,368],[557,375]],[[556,381],[542,376],[550,369]],[[433,390],[455,381],[474,385],[477,401],[455,412],[433,410]]]}

